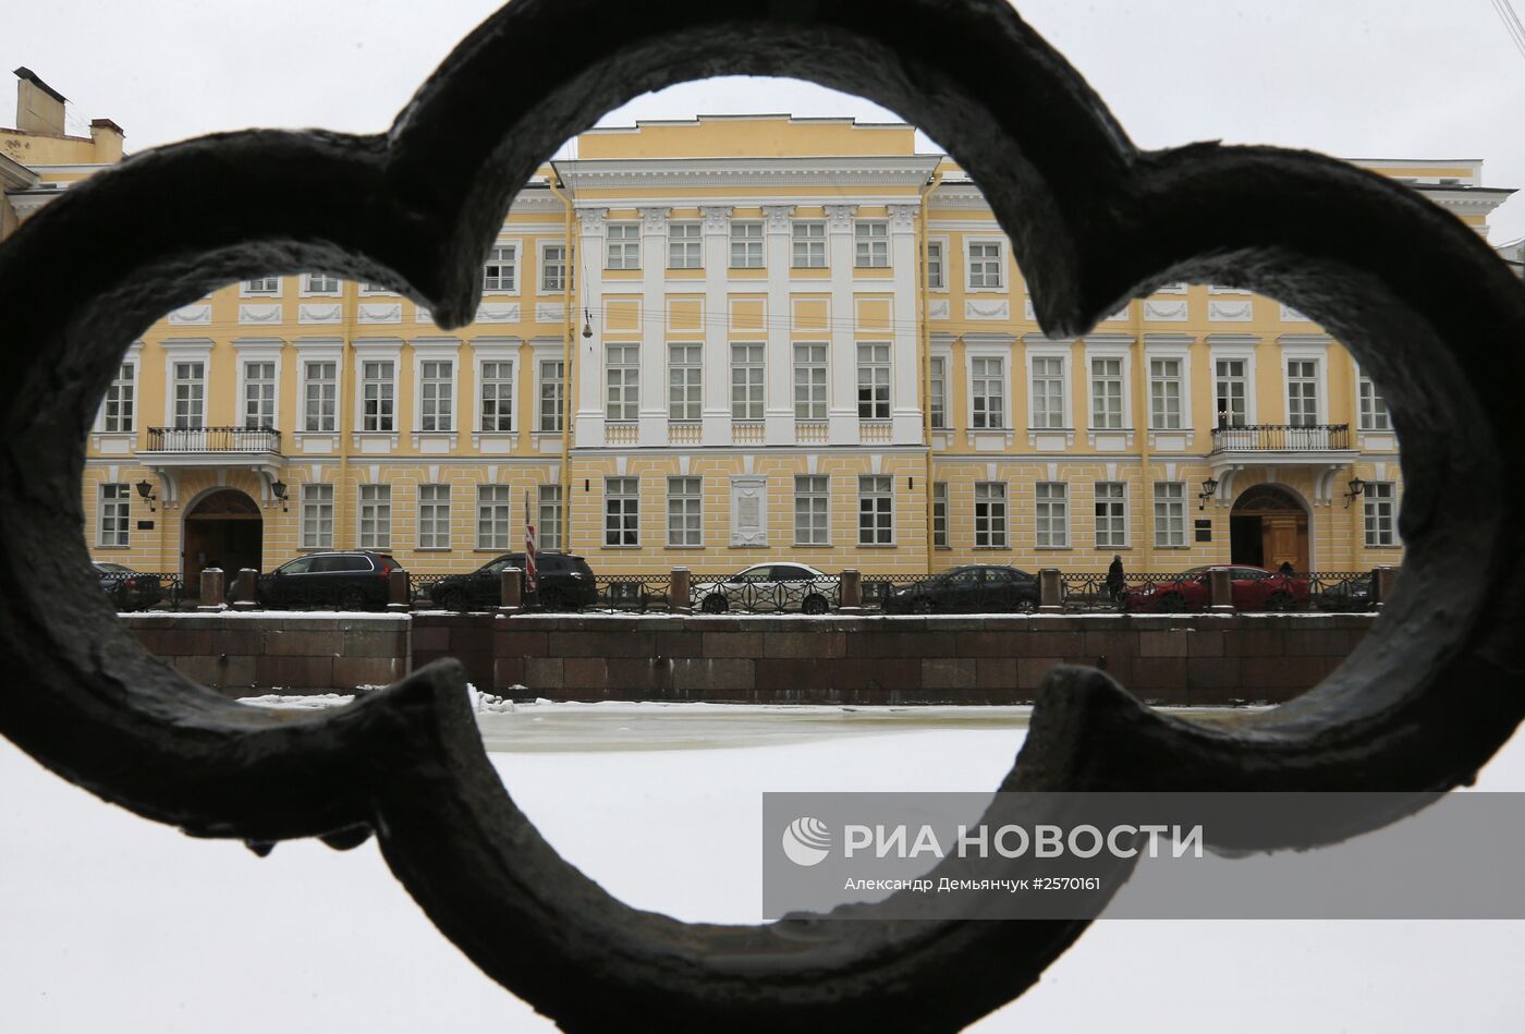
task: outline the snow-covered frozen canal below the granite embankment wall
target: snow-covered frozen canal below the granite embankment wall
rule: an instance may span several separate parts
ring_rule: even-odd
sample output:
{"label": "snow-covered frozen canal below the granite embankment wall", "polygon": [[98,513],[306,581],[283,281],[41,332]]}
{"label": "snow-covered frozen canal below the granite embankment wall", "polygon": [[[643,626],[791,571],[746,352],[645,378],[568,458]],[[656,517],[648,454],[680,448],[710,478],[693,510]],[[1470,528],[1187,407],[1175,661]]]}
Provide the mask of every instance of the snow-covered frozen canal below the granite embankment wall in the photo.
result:
{"label": "snow-covered frozen canal below the granite embankment wall", "polygon": [[[1026,709],[483,714],[549,840],[631,904],[756,921],[762,790],[991,790]],[[1525,790],[1516,738],[1479,781]],[[543,1031],[374,845],[265,860],[99,804],[0,740],[0,1031]],[[505,932],[511,935],[511,932]],[[1525,923],[1113,921],[978,1031],[1519,1029]]]}

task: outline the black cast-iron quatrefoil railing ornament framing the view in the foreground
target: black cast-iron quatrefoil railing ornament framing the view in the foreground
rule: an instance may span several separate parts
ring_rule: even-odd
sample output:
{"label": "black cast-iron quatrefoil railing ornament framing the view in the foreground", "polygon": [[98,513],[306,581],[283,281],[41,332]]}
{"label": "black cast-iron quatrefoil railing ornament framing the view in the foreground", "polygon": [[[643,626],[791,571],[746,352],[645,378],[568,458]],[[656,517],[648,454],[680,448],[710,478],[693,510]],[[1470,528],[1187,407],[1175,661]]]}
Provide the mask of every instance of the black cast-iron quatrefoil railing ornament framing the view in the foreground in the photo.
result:
{"label": "black cast-iron quatrefoil railing ornament framing the view in the foreground", "polygon": [[718,73],[811,79],[926,128],[981,185],[1052,332],[1168,281],[1244,287],[1322,323],[1389,398],[1408,555],[1351,659],[1226,727],[1057,670],[1006,788],[1406,790],[1418,808],[1510,737],[1525,712],[1511,491],[1525,287],[1472,229],[1383,177],[1272,148],[1136,149],[1002,0],[515,0],[383,136],[230,133],[72,188],[0,246],[0,732],[197,836],[352,846],[375,831],[439,929],[566,1029],[955,1029],[1029,987],[1083,921],[729,927],[631,909],[514,805],[458,665],[342,711],[274,715],[146,656],[85,573],[85,433],[120,354],[163,313],[230,281],[320,270],[459,326],[511,195],[547,154],[639,93]]}

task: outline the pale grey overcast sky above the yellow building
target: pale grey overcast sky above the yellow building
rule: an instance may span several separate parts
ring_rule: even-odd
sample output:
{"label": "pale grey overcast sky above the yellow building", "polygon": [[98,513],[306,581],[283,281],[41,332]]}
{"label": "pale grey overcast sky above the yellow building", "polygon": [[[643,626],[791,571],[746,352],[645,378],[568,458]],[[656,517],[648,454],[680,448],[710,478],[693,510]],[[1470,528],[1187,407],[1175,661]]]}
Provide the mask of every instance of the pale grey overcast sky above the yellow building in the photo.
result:
{"label": "pale grey overcast sky above the yellow building", "polygon": [[[619,0],[615,0],[619,2]],[[628,2],[628,0],[627,0]],[[720,2],[720,0],[717,0]],[[1513,0],[1525,14],[1525,2]],[[130,151],[261,127],[386,128],[494,0],[49,0],[3,18],[3,69],[27,66]],[[1345,157],[1484,159],[1488,186],[1525,188],[1525,55],[1493,0],[1029,0],[1142,146],[1223,139]],[[569,47],[576,40],[567,40]],[[711,79],[605,117],[720,111],[851,114],[865,101],[791,81]],[[14,102],[0,90],[0,124]],[[1491,239],[1525,236],[1525,197]]]}

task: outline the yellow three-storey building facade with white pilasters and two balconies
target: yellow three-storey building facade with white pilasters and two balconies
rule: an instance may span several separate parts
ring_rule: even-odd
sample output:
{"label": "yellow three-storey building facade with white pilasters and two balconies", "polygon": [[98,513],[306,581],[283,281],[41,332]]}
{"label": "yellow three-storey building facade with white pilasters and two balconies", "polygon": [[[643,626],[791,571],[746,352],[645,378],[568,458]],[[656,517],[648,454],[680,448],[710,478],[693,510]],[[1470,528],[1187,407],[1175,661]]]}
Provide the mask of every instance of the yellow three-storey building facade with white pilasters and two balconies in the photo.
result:
{"label": "yellow three-storey building facade with white pilasters and two balconies", "polygon": [[[1401,555],[1380,386],[1273,299],[1165,285],[1049,339],[979,188],[906,125],[702,117],[575,154],[512,198],[467,328],[323,273],[168,313],[90,435],[92,552],[468,570],[528,509],[599,573]],[[1510,194],[1473,160],[1359,165],[1479,233]],[[29,168],[6,218],[82,166]]]}

